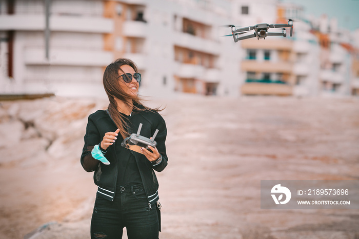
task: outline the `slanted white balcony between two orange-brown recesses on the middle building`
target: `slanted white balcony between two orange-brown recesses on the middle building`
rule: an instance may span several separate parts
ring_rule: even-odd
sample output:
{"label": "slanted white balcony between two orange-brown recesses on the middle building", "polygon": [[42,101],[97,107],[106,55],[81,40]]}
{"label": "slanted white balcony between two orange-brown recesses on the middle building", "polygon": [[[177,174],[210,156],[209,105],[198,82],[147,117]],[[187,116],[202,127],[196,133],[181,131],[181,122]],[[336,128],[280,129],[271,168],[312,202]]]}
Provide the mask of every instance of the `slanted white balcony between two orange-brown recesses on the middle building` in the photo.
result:
{"label": "slanted white balcony between two orange-brown recesses on the middle building", "polygon": [[173,42],[177,46],[213,55],[221,54],[221,46],[218,42],[193,36],[184,32],[174,32],[173,37]]}

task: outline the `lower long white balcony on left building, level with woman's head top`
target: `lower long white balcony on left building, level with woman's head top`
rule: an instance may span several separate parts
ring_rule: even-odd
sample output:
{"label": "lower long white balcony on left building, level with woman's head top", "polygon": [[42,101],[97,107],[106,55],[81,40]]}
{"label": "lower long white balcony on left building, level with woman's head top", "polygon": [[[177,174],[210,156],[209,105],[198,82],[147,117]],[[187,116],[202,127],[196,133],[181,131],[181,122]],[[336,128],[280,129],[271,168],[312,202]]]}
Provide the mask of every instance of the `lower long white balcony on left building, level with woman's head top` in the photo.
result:
{"label": "lower long white balcony on left building, level with woman's head top", "polygon": [[73,49],[50,49],[49,61],[45,50],[31,48],[24,53],[26,65],[63,65],[63,66],[107,66],[113,61],[109,51],[84,51]]}

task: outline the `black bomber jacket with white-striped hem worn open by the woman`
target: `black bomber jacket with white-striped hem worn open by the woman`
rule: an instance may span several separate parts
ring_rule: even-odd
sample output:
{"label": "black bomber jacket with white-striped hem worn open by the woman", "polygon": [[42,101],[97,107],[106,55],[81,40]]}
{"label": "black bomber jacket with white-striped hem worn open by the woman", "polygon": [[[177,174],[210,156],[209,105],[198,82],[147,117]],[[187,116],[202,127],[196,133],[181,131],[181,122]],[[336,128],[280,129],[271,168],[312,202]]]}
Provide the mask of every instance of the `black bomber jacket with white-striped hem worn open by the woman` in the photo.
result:
{"label": "black bomber jacket with white-striped hem worn open by the woman", "polygon": [[[161,172],[167,166],[167,154],[165,140],[167,136],[166,123],[161,115],[157,112],[145,110],[132,113],[130,118],[133,128],[129,133],[136,133],[140,123],[143,124],[141,135],[151,137],[155,130],[158,129],[155,141],[157,142],[157,150],[162,155],[162,162],[153,166],[145,155],[131,151],[135,157],[139,173],[146,195],[148,197],[149,206],[158,201],[158,181],[154,170]],[[113,201],[116,193],[116,182],[118,174],[117,161],[121,160],[121,155],[116,154],[115,144],[121,144],[121,135],[117,136],[116,142],[107,148],[105,157],[110,162],[109,165],[95,160],[91,156],[91,150],[95,145],[101,143],[106,132],[114,132],[117,127],[111,117],[105,110],[98,110],[88,117],[86,134],[84,137],[85,145],[81,155],[81,165],[88,171],[95,171],[93,175],[94,183],[97,185],[97,196]]]}

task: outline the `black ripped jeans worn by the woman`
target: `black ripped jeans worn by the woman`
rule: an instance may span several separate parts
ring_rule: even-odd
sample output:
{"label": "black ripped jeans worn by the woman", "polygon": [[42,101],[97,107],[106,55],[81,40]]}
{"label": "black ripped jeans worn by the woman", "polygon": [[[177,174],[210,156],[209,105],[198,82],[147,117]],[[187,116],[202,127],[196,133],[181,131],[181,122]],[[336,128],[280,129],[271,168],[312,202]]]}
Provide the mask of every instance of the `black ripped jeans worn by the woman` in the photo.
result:
{"label": "black ripped jeans worn by the woman", "polygon": [[158,239],[156,206],[149,208],[146,193],[138,186],[116,188],[113,202],[97,196],[91,220],[91,238]]}

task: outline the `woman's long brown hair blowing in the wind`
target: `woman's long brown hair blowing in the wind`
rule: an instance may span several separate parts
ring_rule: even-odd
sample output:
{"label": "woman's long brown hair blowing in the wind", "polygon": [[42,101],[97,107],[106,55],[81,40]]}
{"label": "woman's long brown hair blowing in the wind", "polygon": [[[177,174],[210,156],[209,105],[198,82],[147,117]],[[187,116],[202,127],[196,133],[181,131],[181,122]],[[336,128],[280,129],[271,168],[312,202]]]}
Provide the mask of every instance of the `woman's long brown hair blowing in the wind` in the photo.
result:
{"label": "woman's long brown hair blowing in the wind", "polygon": [[129,136],[129,133],[127,132],[128,124],[125,121],[125,118],[121,115],[121,113],[117,110],[117,102],[115,101],[115,98],[119,99],[120,101],[123,101],[126,105],[131,107],[130,102],[132,101],[133,109],[138,111],[143,110],[151,110],[151,111],[161,111],[162,109],[151,109],[143,105],[144,99],[139,97],[138,95],[130,95],[126,93],[118,83],[118,70],[121,70],[121,66],[129,65],[133,68],[135,72],[138,72],[137,66],[134,62],[132,62],[130,59],[127,58],[118,58],[116,61],[112,62],[110,65],[108,65],[104,72],[103,77],[103,84],[106,91],[106,94],[108,96],[108,99],[110,101],[110,104],[108,106],[108,111],[110,112],[110,115],[112,117],[112,120],[116,124],[117,128],[119,129],[119,133],[121,133],[122,137],[125,138]]}

